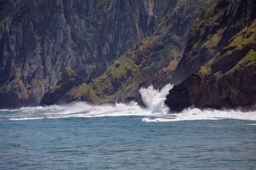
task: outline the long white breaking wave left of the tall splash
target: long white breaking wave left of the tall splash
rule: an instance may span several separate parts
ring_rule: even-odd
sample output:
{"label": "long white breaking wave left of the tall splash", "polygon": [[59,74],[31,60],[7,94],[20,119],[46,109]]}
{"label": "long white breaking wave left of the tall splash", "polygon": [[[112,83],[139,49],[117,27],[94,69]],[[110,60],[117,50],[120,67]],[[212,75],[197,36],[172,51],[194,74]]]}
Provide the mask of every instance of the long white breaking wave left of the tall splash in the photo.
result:
{"label": "long white breaking wave left of the tall splash", "polygon": [[21,108],[15,114],[3,114],[0,120],[29,120],[29,119],[53,119],[68,117],[96,117],[96,116],[145,116],[151,114],[140,108],[136,102],[129,104],[113,105],[88,105],[86,102],[72,102],[67,105],[51,105]]}

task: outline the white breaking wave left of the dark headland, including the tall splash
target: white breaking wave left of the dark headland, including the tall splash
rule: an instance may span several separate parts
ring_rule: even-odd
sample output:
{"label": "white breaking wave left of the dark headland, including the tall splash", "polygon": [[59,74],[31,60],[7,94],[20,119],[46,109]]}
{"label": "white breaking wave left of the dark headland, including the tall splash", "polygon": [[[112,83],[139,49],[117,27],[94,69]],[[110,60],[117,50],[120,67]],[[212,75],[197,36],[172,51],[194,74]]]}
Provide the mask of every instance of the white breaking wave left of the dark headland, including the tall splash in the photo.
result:
{"label": "white breaking wave left of the dark headland, including the tall splash", "polygon": [[166,95],[173,86],[168,84],[161,91],[141,88],[140,93],[147,108],[140,107],[137,102],[115,105],[90,105],[86,102],[71,102],[66,105],[49,105],[24,107],[17,110],[0,110],[0,120],[28,120],[50,119],[67,117],[94,117],[94,116],[161,116],[169,112],[164,105]]}

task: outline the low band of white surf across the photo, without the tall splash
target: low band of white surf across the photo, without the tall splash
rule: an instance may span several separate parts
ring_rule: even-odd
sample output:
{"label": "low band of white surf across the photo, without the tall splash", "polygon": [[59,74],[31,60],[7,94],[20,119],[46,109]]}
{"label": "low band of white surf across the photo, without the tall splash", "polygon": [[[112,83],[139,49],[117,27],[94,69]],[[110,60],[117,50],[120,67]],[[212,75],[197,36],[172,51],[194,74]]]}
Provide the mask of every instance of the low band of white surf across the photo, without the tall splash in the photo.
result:
{"label": "low band of white surf across the photo, without the tall splash", "polygon": [[[165,112],[166,113],[166,112]],[[140,108],[135,102],[131,105],[88,105],[85,102],[73,102],[67,105],[47,107],[27,107],[17,110],[1,110],[0,120],[58,119],[69,117],[102,117],[102,116],[143,116],[143,122],[172,122],[187,120],[245,119],[256,120],[256,111],[216,110],[187,108],[181,113],[159,114]]]}

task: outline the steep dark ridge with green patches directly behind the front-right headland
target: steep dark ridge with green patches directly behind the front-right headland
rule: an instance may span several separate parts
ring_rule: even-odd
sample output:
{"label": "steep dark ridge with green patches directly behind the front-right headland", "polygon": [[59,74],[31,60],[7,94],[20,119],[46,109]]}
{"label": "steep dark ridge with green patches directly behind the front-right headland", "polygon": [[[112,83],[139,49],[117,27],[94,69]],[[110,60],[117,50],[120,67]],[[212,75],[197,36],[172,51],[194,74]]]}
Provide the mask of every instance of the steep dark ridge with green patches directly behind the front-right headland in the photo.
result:
{"label": "steep dark ridge with green patches directly behind the front-right headland", "polygon": [[181,82],[215,57],[256,15],[254,0],[219,0],[199,17],[189,33],[173,79]]}

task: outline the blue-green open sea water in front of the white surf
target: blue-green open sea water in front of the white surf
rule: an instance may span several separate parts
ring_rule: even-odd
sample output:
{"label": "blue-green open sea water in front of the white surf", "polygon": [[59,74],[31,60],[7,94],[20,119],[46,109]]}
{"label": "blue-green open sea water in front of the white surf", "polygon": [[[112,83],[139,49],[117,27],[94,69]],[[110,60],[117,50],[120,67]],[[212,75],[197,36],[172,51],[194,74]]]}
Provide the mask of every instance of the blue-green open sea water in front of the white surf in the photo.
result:
{"label": "blue-green open sea water in front of the white surf", "polygon": [[[1,118],[8,111],[1,111]],[[13,113],[15,114],[15,113]],[[0,169],[253,170],[256,121],[156,116],[0,121]],[[161,119],[161,118],[159,118]]]}

